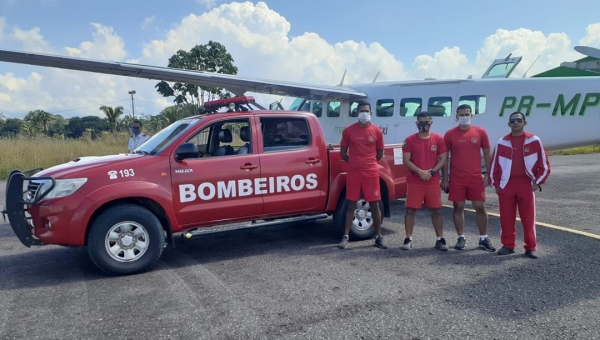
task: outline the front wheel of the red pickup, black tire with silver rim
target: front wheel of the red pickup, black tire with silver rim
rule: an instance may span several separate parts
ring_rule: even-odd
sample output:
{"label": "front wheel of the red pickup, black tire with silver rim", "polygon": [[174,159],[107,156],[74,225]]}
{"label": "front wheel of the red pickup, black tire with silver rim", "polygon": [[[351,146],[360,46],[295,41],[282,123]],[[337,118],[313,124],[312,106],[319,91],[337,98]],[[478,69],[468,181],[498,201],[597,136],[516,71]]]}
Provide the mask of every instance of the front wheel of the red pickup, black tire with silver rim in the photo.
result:
{"label": "front wheel of the red pickup, black tire with silver rim", "polygon": [[[90,228],[88,254],[98,268],[111,275],[148,270],[164,249],[165,236],[160,221],[138,205],[108,208]],[[109,247],[114,254],[109,252]]]}

